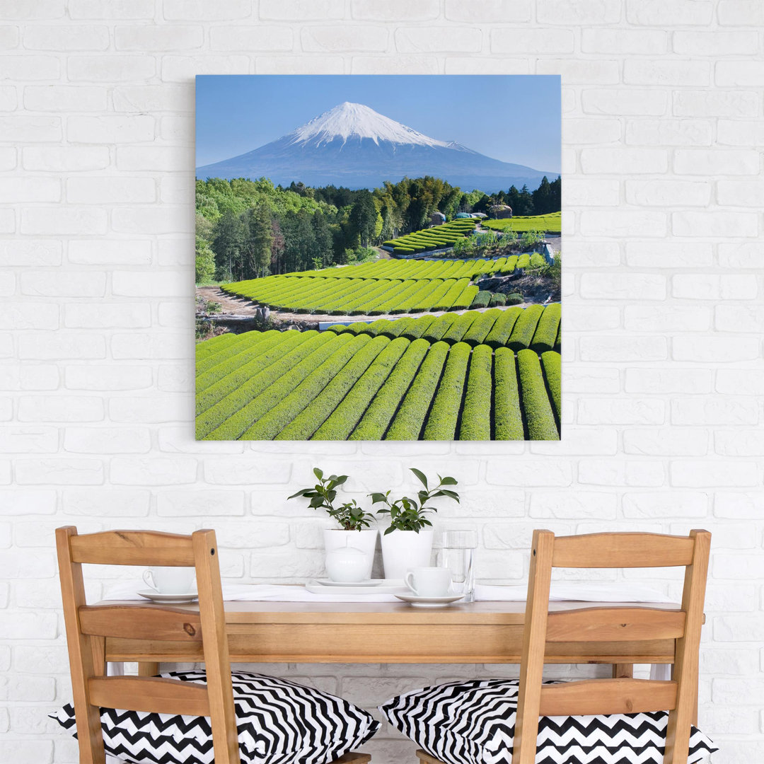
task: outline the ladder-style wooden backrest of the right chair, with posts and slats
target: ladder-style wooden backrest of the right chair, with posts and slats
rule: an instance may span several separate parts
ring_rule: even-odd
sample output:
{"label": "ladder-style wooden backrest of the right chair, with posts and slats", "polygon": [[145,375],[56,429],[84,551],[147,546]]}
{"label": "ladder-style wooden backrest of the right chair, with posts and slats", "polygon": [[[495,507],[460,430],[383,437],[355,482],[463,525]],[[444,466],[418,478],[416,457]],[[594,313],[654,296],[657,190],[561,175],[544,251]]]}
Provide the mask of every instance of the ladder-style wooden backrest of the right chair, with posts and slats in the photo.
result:
{"label": "ladder-style wooden backrest of the right chair, with posts and slats", "polygon": [[[687,761],[698,693],[700,649],[711,533],[533,533],[520,694],[512,764],[536,761],[541,716],[636,714],[669,711],[664,764]],[[552,568],[685,568],[681,607],[587,607],[549,613]],[[671,681],[590,679],[542,685],[548,642],[620,642],[674,639]]]}

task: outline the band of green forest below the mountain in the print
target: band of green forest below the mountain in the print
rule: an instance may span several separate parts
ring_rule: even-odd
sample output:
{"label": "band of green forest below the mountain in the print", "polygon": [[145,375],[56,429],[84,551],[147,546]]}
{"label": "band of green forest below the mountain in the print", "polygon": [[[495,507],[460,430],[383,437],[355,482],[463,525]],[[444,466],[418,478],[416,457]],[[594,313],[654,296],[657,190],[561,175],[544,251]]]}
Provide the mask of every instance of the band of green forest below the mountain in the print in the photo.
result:
{"label": "band of green forest below the mountain in the print", "polygon": [[271,274],[357,263],[377,256],[374,246],[425,228],[434,212],[487,212],[507,204],[515,215],[561,209],[559,176],[488,195],[464,193],[426,176],[381,188],[288,188],[270,180],[196,181],[196,282],[242,281]]}

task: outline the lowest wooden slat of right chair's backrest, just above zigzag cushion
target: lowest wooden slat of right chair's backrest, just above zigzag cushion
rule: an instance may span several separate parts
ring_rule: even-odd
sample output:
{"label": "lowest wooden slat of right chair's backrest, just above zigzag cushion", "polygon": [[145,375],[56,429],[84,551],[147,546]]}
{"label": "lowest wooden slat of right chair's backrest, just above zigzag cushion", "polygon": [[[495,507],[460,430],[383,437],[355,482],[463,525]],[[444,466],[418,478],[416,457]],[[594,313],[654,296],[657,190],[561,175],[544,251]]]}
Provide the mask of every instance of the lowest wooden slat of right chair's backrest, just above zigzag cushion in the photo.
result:
{"label": "lowest wooden slat of right chair's backrest, just above zigzag cushion", "polygon": [[676,705],[675,681],[650,679],[588,679],[544,685],[542,716],[644,714],[670,711]]}

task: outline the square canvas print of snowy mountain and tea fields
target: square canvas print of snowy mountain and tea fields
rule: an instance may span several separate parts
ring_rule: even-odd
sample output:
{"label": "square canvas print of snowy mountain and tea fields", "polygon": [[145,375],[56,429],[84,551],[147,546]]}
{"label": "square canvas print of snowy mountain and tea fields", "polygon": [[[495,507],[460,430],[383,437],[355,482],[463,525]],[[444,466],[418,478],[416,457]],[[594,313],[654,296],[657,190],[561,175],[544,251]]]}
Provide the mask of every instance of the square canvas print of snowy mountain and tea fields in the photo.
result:
{"label": "square canvas print of snowy mountain and tea fields", "polygon": [[557,440],[558,76],[196,78],[196,438]]}

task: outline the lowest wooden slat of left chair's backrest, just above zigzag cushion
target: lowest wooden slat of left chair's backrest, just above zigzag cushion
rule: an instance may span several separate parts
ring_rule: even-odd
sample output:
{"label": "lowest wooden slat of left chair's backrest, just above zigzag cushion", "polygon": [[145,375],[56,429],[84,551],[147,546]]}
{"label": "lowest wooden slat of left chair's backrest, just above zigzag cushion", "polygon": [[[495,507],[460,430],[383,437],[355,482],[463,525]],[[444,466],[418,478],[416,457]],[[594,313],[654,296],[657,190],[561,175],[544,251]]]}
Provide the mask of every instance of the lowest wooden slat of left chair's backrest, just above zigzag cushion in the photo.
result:
{"label": "lowest wooden slat of left chair's backrest, just above zigzag cushion", "polygon": [[91,705],[101,708],[209,716],[206,685],[194,685],[178,679],[134,676],[92,678],[88,681],[88,700]]}

